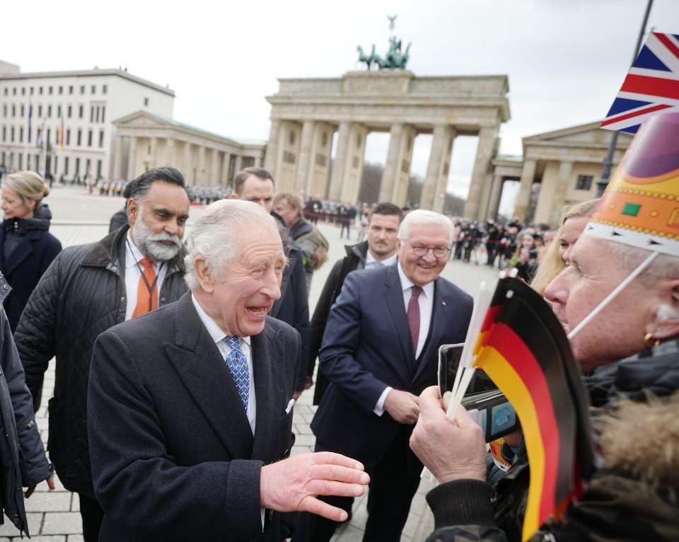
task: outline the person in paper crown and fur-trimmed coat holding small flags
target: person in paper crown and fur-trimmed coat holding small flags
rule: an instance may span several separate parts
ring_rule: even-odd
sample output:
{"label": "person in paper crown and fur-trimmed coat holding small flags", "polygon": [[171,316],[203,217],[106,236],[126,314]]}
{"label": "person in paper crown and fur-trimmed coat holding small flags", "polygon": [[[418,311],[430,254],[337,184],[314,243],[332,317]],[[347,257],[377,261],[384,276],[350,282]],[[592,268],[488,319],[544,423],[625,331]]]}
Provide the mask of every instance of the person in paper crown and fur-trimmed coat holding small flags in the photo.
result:
{"label": "person in paper crown and fur-trimmed coat holding small flags", "polygon": [[[584,375],[603,467],[533,541],[679,540],[678,142],[679,114],[646,123],[545,290]],[[429,540],[521,539],[525,456],[491,488],[480,428],[461,408],[448,420],[443,403],[422,393],[410,442],[441,483],[427,495]]]}

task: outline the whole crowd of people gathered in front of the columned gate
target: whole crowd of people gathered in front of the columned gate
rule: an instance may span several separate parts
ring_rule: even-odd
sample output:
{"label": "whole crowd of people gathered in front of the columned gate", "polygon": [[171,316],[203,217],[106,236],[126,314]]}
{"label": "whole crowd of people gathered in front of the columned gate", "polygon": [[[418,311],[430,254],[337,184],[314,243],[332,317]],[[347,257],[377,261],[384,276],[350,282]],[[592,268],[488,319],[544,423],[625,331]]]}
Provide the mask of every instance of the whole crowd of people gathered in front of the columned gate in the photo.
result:
{"label": "whole crowd of people gathered in front of the columned gate", "polygon": [[[679,539],[671,221],[649,228],[650,243],[613,235],[615,205],[600,200],[564,209],[554,229],[340,204],[340,238],[345,225],[347,239],[349,226],[360,234],[310,318],[323,205],[274,183],[262,168],[238,172],[228,197],[204,196],[185,240],[192,191],[180,171],[152,169],[124,187],[107,236],[61,250],[40,175],[6,175],[1,494],[20,531],[16,490],[53,488],[56,468],[79,495],[86,542],[329,541],[368,486],[364,541],[398,541],[426,466],[440,483],[427,495],[432,542],[521,539],[523,432],[506,437],[509,471],[489,469],[482,430],[463,408],[449,419],[435,386],[439,346],[464,342],[472,317],[472,298],[441,272],[483,245],[477,263],[531,284],[571,333],[593,408],[600,465],[565,521],[532,539]],[[52,358],[48,461],[33,413]],[[314,379],[315,451],[291,454],[294,404]]]}

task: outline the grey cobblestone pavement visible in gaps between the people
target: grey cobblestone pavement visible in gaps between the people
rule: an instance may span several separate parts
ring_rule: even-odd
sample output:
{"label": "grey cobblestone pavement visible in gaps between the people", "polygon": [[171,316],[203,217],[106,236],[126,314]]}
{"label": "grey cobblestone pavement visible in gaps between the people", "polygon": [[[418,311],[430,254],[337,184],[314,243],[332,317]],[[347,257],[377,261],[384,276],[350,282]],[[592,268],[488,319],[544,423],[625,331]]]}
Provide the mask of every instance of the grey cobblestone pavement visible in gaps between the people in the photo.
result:
{"label": "grey cobblestone pavement visible in gaps between the people", "polygon": [[[122,197],[106,197],[90,195],[82,188],[62,188],[55,186],[45,200],[53,214],[50,231],[59,238],[62,245],[70,246],[79,243],[97,241],[108,233],[110,216],[122,207]],[[204,207],[192,205],[190,221],[195,220]],[[98,223],[98,224],[97,224]],[[340,239],[340,229],[332,224],[319,224],[320,231],[330,242],[329,258],[320,270],[315,273],[311,284],[309,302],[311,311],[320,296],[327,273],[332,263],[344,255],[344,243],[356,243],[356,230],[352,231],[352,239]],[[459,261],[448,263],[443,277],[451,280],[466,292],[474,295],[481,281],[492,283],[497,276],[496,270],[485,265],[465,264]],[[43,442],[47,442],[47,400],[54,391],[54,361],[45,374],[42,406],[36,413],[36,421],[42,434]],[[314,437],[309,424],[315,407],[311,405],[313,389],[302,394],[294,411],[294,431],[296,444],[294,454],[313,451]],[[414,497],[410,517],[403,531],[402,541],[421,541],[426,538],[433,527],[433,518],[426,505],[424,495],[433,487],[429,480],[423,480]],[[366,497],[356,499],[352,520],[337,529],[333,537],[335,542],[360,541],[366,522]],[[35,542],[81,542],[82,524],[79,513],[78,496],[64,489],[57,480],[57,489],[47,490],[47,484],[37,486],[35,493],[25,501],[28,513],[28,525],[31,540]],[[0,527],[0,542],[18,541],[18,531],[8,521]]]}

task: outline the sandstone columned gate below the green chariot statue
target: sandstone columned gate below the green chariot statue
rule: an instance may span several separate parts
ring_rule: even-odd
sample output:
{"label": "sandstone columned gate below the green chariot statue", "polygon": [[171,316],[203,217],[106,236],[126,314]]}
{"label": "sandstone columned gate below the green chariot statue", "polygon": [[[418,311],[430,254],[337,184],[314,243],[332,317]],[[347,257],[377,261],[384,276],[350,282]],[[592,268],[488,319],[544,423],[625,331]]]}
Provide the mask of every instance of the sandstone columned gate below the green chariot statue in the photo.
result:
{"label": "sandstone columned gate below the green chariot statue", "polygon": [[[379,200],[405,204],[414,138],[433,134],[419,207],[440,212],[455,137],[477,136],[465,216],[481,218],[493,197],[491,161],[497,153],[499,127],[509,120],[507,76],[349,71],[341,79],[279,79],[279,83],[278,93],[267,97],[272,110],[265,158],[277,190],[356,202],[366,136],[389,132]],[[335,132],[337,149],[330,168]]]}

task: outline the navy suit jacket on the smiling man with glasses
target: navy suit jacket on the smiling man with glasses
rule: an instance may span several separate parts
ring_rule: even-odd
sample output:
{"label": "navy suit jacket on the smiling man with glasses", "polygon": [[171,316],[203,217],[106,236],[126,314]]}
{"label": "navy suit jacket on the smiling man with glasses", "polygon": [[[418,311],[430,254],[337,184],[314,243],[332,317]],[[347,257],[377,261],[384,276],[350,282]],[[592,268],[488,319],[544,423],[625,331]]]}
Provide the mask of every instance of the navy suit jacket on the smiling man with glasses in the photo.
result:
{"label": "navy suit jacket on the smiling man with glasses", "polygon": [[367,467],[384,456],[399,428],[388,413],[373,413],[385,387],[419,395],[436,384],[439,345],[464,342],[472,315],[472,298],[436,279],[429,337],[414,359],[397,265],[347,275],[320,350],[331,384],[311,429],[327,449]]}

